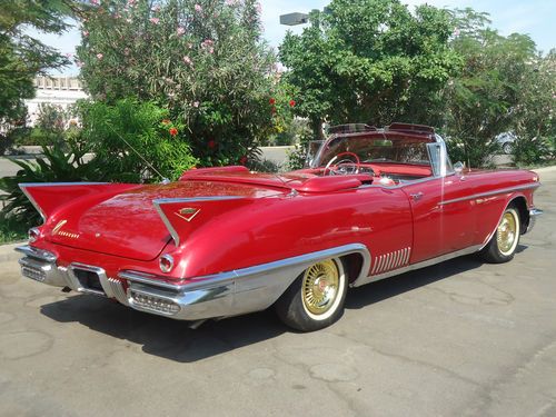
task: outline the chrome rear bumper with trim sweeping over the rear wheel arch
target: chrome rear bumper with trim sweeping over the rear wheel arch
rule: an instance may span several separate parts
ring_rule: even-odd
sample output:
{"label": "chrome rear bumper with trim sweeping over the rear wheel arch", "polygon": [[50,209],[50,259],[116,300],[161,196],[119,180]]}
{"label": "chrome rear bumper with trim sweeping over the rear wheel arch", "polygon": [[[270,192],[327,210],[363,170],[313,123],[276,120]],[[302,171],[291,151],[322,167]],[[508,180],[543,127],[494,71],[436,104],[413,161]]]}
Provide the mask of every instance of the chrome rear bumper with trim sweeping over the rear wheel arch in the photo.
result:
{"label": "chrome rear bumper with trim sweeping over the rear wheel arch", "polygon": [[57,257],[30,246],[16,250],[24,277],[78,292],[115,298],[122,305],[178,320],[203,320],[238,316],[270,307],[310,265],[318,260],[360,254],[360,275],[369,269],[370,256],[360,244],[351,244],[265,265],[188,279],[177,285],[153,275],[123,270],[108,277],[102,268],[73,262],[57,266]]}

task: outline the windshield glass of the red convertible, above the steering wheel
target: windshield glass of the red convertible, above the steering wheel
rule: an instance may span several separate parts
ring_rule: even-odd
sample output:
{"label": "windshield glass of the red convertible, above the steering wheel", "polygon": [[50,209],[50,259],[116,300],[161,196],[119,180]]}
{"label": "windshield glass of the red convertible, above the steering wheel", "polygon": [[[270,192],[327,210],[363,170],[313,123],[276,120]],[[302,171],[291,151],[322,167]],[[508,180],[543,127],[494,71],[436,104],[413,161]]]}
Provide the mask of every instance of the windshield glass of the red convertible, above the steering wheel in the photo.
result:
{"label": "windshield glass of the red convertible, above the steering wheel", "polygon": [[341,136],[332,138],[324,145],[312,168],[325,167],[335,158],[345,155],[356,155],[361,163],[396,162],[411,165],[430,165],[427,142],[423,139],[400,138],[387,133],[373,136]]}

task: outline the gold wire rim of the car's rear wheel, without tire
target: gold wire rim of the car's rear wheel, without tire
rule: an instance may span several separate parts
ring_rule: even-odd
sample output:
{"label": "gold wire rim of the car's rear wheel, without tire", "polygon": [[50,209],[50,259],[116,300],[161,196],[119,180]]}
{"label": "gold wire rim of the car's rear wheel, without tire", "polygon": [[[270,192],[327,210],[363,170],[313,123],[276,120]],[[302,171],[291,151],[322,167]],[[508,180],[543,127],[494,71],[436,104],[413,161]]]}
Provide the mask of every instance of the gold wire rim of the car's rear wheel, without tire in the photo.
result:
{"label": "gold wire rim of the car's rear wheel, without tire", "polygon": [[321,260],[304,274],[301,297],[307,310],[314,315],[328,311],[338,297],[339,272],[331,259]]}

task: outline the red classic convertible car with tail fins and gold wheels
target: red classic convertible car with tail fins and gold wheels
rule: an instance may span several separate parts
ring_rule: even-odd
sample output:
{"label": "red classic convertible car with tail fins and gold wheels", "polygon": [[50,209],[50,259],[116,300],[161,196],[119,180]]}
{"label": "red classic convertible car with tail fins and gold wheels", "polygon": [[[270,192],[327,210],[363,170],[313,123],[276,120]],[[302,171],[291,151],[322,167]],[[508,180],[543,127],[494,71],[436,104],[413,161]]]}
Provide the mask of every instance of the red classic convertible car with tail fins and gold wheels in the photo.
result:
{"label": "red classic convertible car with tail fins and gold wheels", "polygon": [[[355,131],[354,131],[355,130]],[[274,307],[304,331],[348,287],[478,252],[514,257],[535,172],[465,170],[434,129],[338,129],[306,169],[195,169],[177,182],[21,183],[42,215],[22,275],[198,325]]]}

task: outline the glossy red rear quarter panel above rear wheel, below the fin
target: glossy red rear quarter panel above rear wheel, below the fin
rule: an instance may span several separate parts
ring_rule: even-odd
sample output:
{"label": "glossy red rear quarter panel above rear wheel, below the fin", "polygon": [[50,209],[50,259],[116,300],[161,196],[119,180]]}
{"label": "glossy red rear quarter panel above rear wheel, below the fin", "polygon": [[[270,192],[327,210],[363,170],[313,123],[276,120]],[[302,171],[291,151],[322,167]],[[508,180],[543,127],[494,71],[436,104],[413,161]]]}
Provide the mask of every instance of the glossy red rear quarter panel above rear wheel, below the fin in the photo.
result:
{"label": "glossy red rear quarter panel above rear wheel, below the fin", "polygon": [[401,190],[361,187],[261,198],[200,225],[180,248],[170,244],[167,249],[181,255],[178,269],[187,278],[355,242],[375,257],[410,246],[411,234],[409,202]]}

